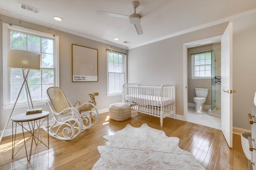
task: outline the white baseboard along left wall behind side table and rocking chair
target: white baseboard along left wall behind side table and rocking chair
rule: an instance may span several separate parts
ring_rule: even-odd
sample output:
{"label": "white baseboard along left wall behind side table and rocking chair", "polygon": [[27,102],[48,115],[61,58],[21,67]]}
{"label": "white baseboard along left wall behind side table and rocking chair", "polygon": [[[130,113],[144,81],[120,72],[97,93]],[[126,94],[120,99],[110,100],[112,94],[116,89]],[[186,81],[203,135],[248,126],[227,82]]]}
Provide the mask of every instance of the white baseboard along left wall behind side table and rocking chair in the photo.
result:
{"label": "white baseboard along left wall behind side table and rocking chair", "polygon": [[[99,109],[99,110],[98,110],[99,114],[106,113],[106,112],[108,112],[108,111],[109,111],[109,108]],[[50,113],[50,114],[52,114],[52,113]],[[9,123],[11,123],[11,121],[10,121]],[[52,119],[49,120],[49,126],[51,126],[53,123],[54,123],[54,120],[52,120]],[[47,121],[45,121],[45,122],[42,124],[42,126],[47,127]],[[27,128],[27,129],[29,129],[29,126],[28,126],[28,125],[25,125],[24,127]],[[42,128],[40,128],[40,130],[42,130]],[[2,134],[2,132],[3,132],[3,130],[0,131],[0,134]],[[22,127],[20,127],[20,126],[16,128],[16,134],[18,134],[18,133],[22,133]],[[11,136],[11,135],[12,135],[12,128],[8,128],[8,129],[6,129],[6,130],[4,131],[3,137],[5,137],[5,136]]]}

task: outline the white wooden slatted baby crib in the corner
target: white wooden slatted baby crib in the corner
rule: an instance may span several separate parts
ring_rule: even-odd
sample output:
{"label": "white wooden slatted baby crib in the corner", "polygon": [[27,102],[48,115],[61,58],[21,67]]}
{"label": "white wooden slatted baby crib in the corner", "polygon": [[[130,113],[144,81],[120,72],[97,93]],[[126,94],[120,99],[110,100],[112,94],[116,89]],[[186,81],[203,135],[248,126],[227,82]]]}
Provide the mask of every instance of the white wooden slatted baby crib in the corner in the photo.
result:
{"label": "white wooden slatted baby crib in the corner", "polygon": [[163,119],[173,115],[176,119],[175,86],[161,85],[139,86],[138,84],[123,85],[123,103],[131,105],[131,109]]}

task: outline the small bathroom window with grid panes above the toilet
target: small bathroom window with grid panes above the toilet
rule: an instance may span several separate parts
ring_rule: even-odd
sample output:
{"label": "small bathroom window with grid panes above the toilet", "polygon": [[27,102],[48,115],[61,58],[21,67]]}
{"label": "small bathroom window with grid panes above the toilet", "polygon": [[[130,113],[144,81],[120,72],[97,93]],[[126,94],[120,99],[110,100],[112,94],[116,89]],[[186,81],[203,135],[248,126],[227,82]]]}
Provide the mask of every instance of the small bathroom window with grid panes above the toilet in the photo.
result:
{"label": "small bathroom window with grid panes above the toilet", "polygon": [[192,79],[211,78],[212,51],[193,53],[192,58]]}

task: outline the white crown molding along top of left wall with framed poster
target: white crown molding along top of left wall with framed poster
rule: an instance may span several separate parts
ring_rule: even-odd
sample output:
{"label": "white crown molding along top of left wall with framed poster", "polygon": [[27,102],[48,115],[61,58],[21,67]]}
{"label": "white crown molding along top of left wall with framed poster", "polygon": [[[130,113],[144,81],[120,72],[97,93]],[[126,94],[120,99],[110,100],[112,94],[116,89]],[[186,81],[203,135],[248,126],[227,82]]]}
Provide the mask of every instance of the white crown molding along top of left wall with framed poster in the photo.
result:
{"label": "white crown molding along top of left wall with framed poster", "polygon": [[94,41],[97,41],[97,42],[106,43],[108,45],[113,45],[115,47],[120,47],[122,49],[128,49],[127,47],[116,44],[116,43],[108,42],[108,41],[105,41],[105,40],[100,40],[98,38],[87,36],[87,35],[81,34],[79,32],[74,32],[74,31],[71,31],[71,30],[68,30],[68,29],[65,29],[65,28],[62,28],[62,27],[54,26],[52,24],[48,24],[46,22],[41,22],[41,21],[38,21],[38,20],[34,20],[32,18],[28,18],[28,17],[25,17],[25,16],[20,16],[18,14],[7,12],[5,10],[0,10],[0,14],[5,15],[5,16],[9,16],[9,17],[12,17],[12,18],[16,18],[16,19],[19,19],[19,20],[23,20],[23,21],[26,21],[26,22],[31,22],[33,24],[38,24],[40,26],[45,26],[45,27],[48,27],[48,28],[52,28],[52,29],[55,29],[55,30],[66,32],[66,33],[69,33],[69,34],[73,34],[73,35],[76,35],[76,36],[80,36],[80,37],[83,37],[83,38],[88,38],[90,40],[94,40]]}

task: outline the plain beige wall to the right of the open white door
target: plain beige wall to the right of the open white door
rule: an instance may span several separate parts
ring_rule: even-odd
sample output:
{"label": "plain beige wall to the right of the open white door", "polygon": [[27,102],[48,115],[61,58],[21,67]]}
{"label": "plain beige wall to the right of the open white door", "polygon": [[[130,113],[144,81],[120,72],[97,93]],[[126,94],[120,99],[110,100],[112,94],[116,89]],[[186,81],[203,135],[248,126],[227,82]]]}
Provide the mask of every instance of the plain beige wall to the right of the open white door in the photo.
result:
{"label": "plain beige wall to the right of the open white door", "polygon": [[[251,129],[247,114],[256,92],[256,15],[233,21],[233,126]],[[254,119],[255,120],[255,119]]]}

